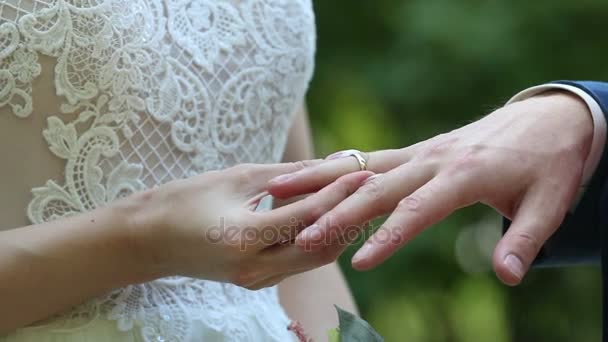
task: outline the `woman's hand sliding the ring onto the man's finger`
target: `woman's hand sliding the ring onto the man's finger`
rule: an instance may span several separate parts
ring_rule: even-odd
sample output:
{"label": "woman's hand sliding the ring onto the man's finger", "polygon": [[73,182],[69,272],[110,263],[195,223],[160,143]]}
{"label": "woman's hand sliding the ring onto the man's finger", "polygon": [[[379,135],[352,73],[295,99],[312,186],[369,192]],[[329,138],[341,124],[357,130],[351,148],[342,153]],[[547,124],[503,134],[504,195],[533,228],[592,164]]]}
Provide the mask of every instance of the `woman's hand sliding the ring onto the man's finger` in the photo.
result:
{"label": "woman's hand sliding the ring onto the man's finger", "polygon": [[137,208],[130,225],[135,253],[157,278],[182,275],[252,289],[334,261],[344,244],[306,253],[289,242],[372,173],[350,174],[301,201],[254,211],[268,180],[303,166],[240,165],[125,199]]}

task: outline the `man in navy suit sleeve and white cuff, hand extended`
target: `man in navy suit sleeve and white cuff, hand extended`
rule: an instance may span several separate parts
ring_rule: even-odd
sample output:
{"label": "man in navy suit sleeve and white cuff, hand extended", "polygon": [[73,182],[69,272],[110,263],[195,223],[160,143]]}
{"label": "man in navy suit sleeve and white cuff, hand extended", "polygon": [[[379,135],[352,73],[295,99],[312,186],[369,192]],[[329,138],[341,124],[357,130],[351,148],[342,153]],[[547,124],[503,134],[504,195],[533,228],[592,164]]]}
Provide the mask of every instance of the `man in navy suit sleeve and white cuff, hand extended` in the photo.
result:
{"label": "man in navy suit sleeve and white cuff, hand extended", "polygon": [[[533,87],[467,126],[416,145],[345,151],[270,182],[275,197],[310,193],[359,169],[376,173],[305,229],[296,242],[321,250],[347,227],[392,213],[353,258],[366,270],[455,210],[482,202],[505,217],[497,276],[517,285],[532,264],[602,263],[608,342],[608,83]],[[354,158],[352,158],[354,157]]]}

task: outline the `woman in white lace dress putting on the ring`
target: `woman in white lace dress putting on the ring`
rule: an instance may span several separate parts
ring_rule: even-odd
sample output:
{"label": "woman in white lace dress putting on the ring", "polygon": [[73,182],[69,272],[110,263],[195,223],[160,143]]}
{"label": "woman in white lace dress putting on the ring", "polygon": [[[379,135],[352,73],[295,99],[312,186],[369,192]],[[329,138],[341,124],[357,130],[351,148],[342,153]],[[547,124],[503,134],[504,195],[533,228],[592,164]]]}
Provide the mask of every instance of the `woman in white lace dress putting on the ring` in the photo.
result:
{"label": "woman in white lace dress putting on the ring", "polygon": [[0,339],[323,340],[341,249],[284,242],[369,175],[264,192],[311,157],[314,49],[310,0],[0,2]]}

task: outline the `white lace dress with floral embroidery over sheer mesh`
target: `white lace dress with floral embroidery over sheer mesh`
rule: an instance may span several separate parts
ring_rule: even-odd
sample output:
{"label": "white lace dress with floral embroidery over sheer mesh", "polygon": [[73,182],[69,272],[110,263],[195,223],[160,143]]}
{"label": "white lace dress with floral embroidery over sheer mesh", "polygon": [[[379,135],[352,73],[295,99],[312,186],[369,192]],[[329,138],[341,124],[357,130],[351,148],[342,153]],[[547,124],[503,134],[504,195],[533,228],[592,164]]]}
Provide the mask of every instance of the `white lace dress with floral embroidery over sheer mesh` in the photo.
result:
{"label": "white lace dress with floral embroidery over sheer mesh", "polygon": [[[0,1],[0,227],[278,162],[314,46],[310,0]],[[276,288],[176,277],[4,339],[289,341],[288,324]]]}

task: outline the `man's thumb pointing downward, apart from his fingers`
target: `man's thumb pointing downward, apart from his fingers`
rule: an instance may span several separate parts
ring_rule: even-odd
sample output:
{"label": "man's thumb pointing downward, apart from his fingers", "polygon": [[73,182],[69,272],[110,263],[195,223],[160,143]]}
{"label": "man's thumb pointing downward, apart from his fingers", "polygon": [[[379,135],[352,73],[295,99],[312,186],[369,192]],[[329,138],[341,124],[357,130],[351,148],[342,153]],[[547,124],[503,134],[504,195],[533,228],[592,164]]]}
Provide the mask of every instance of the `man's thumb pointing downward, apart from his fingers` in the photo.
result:
{"label": "man's thumb pointing downward, apart from his fingers", "polygon": [[[518,285],[538,252],[562,223],[572,196],[564,189],[531,189],[515,213],[513,223],[494,250],[494,271],[505,284]],[[556,194],[562,192],[562,194]]]}

